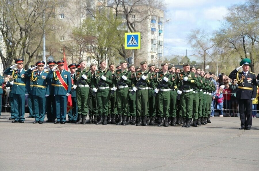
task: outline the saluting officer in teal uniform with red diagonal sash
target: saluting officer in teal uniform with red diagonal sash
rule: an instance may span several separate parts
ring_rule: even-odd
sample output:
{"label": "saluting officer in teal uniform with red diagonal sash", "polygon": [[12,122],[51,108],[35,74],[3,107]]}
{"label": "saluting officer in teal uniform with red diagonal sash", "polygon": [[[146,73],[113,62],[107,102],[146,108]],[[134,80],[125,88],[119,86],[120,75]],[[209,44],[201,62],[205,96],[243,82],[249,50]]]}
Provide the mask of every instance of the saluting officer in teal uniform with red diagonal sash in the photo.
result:
{"label": "saluting officer in teal uniform with red diagonal sash", "polygon": [[[53,77],[54,95],[56,101],[57,121],[54,123],[66,123],[67,97],[71,93],[70,73],[64,70],[64,61],[58,61],[57,65],[50,70],[48,77]],[[56,68],[58,67],[58,70]]]}

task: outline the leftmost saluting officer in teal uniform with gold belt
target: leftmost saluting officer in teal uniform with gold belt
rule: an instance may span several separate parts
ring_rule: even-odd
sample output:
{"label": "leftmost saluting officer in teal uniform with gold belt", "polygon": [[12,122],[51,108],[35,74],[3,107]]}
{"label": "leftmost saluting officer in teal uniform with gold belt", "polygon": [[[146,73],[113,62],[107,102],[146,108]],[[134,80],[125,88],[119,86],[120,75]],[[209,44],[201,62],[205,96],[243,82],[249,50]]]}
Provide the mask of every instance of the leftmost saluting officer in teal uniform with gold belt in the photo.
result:
{"label": "leftmost saluting officer in teal uniform with gold belt", "polygon": [[[24,114],[25,114],[25,94],[28,94],[29,87],[26,86],[27,82],[29,81],[25,77],[25,72],[23,68],[23,59],[16,59],[15,65],[7,68],[5,70],[5,74],[11,75],[14,79],[13,86],[12,86],[12,94],[14,95],[14,120],[12,123],[20,122],[24,123]],[[17,66],[17,70],[14,70],[14,67]],[[12,83],[11,83],[12,84]]]}

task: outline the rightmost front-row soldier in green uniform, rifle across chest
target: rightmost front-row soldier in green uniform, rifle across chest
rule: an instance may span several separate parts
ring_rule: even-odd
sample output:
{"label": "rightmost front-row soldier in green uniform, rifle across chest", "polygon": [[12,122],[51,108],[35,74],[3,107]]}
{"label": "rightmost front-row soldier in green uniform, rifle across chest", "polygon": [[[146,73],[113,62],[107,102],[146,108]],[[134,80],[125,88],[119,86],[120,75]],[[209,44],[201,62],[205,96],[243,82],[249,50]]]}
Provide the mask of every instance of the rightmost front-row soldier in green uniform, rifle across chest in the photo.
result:
{"label": "rightmost front-row soldier in green uniform, rifle across chest", "polygon": [[181,87],[177,93],[180,95],[182,117],[184,124],[182,127],[190,127],[193,114],[193,87],[194,73],[190,72],[190,64],[183,64],[183,72],[176,76],[177,87]]}

